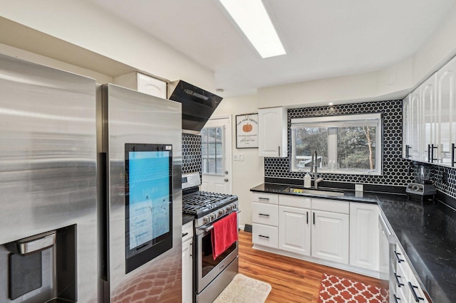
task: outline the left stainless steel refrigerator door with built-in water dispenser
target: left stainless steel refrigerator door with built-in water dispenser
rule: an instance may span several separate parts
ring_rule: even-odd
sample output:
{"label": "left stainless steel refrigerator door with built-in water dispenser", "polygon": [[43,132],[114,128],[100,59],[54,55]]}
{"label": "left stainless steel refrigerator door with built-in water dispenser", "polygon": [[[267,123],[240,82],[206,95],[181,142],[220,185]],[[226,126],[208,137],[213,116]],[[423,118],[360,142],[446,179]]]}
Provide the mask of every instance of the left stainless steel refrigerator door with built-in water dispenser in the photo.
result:
{"label": "left stainless steel refrigerator door with built-in water dispenser", "polygon": [[0,55],[0,302],[97,302],[95,80]]}

